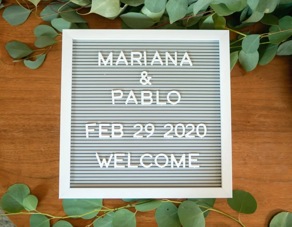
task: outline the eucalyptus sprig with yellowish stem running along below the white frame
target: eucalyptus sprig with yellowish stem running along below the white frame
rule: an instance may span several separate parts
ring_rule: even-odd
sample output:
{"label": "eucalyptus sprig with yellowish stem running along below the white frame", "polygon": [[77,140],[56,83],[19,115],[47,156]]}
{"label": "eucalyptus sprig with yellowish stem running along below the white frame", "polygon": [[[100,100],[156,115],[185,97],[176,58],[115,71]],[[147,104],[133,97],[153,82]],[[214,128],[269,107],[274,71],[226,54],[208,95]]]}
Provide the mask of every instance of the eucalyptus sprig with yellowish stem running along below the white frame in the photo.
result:
{"label": "eucalyptus sprig with yellowish stem running along below the white frame", "polygon": [[[159,227],[204,227],[205,218],[210,211],[223,214],[236,221],[240,226],[245,225],[240,221],[240,214],[253,214],[257,209],[255,198],[248,192],[235,190],[232,198],[227,199],[228,205],[238,212],[238,219],[215,209],[213,206],[216,199],[187,199],[183,202],[168,199],[122,199],[130,204],[122,207],[109,209],[102,205],[102,199],[64,199],[63,209],[68,216],[53,216],[37,211],[38,199],[30,194],[27,185],[17,183],[10,186],[1,197],[0,206],[7,212],[0,215],[29,214],[30,227],[50,227],[51,219],[82,218],[93,219],[85,227],[135,227],[136,213],[147,212],[156,209],[155,219]],[[133,203],[135,202],[135,203]],[[179,204],[177,207],[175,204]],[[135,207],[133,213],[127,208]],[[22,212],[23,210],[27,212]],[[101,215],[98,215],[100,212]],[[292,214],[281,212],[274,216],[270,227],[292,226]],[[65,220],[58,220],[53,227],[72,227]]]}

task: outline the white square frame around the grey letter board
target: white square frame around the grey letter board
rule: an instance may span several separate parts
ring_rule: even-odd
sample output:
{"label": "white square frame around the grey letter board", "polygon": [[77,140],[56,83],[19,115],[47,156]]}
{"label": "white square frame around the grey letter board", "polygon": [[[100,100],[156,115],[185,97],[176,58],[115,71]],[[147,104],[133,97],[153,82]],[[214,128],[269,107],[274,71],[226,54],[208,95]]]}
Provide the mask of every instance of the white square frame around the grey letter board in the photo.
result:
{"label": "white square frame around the grey letter board", "polygon": [[[70,188],[72,48],[76,39],[219,40],[222,187]],[[232,197],[230,53],[228,30],[63,30],[59,198]]]}

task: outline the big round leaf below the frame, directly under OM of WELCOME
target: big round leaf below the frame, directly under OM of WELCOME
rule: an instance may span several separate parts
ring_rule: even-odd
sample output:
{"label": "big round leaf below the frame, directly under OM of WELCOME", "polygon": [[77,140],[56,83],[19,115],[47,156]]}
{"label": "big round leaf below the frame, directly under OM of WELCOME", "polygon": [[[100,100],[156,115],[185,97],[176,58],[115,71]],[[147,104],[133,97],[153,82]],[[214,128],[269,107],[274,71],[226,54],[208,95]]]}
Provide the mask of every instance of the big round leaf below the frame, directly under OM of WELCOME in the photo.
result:
{"label": "big round leaf below the frame, directly under OM of WELCOME", "polygon": [[163,202],[155,211],[158,227],[180,227],[178,208],[172,202]]}

